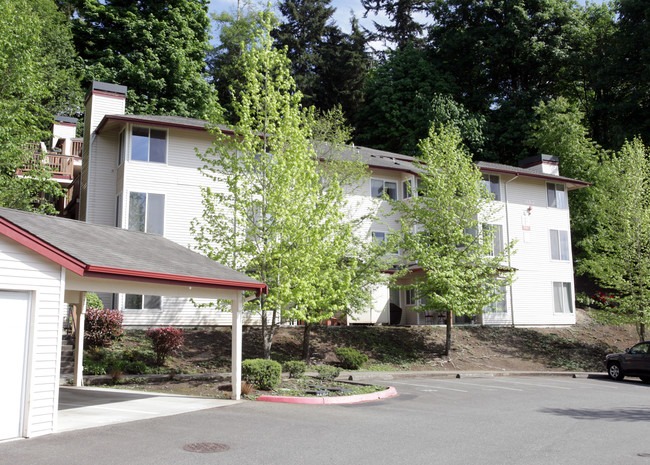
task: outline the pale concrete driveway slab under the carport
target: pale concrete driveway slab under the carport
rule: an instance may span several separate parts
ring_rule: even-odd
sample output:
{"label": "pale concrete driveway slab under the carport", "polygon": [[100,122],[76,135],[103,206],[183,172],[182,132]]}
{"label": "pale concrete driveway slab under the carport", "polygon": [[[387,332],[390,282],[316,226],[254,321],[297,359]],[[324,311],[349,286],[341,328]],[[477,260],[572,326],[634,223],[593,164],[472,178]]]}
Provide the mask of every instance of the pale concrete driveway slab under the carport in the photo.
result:
{"label": "pale concrete driveway slab under the carport", "polygon": [[240,401],[91,387],[59,389],[57,432],[234,405]]}

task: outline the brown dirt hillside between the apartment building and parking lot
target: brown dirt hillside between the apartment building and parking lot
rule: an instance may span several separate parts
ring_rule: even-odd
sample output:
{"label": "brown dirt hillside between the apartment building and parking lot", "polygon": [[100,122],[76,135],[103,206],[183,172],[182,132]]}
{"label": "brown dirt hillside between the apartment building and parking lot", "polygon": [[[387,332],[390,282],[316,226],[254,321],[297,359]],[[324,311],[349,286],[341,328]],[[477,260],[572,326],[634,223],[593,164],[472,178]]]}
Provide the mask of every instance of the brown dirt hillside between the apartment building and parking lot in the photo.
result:
{"label": "brown dirt hillside between the apartment building and parking lot", "polygon": [[[281,328],[272,358],[299,360],[300,327]],[[567,370],[603,371],[605,354],[637,342],[635,328],[596,323],[578,310],[578,324],[565,328],[455,327],[451,357],[442,356],[443,327],[321,326],[312,333],[314,364],[337,362],[334,349],[353,347],[375,370]],[[260,328],[245,328],[244,359],[262,355]],[[188,329],[182,353],[167,365],[180,372],[230,369],[230,328]]]}

